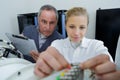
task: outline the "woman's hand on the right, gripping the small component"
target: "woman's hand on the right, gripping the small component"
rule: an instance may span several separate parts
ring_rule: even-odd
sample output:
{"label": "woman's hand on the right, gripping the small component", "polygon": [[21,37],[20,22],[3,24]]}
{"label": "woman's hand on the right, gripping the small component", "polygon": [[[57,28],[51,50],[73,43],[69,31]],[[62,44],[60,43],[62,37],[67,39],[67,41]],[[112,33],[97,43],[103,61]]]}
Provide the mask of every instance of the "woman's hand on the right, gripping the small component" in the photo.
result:
{"label": "woman's hand on the right, gripping the small component", "polygon": [[120,71],[106,54],[98,55],[80,64],[82,69],[90,69],[96,74],[97,80],[120,80]]}

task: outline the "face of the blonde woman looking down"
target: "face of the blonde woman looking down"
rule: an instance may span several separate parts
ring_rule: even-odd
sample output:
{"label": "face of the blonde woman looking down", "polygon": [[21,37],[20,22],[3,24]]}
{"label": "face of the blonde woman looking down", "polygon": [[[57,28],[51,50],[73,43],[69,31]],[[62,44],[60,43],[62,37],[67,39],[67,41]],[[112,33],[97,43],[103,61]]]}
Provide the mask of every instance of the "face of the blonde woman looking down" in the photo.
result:
{"label": "face of the blonde woman looking down", "polygon": [[66,21],[66,30],[69,39],[73,42],[80,42],[87,31],[87,16],[71,16]]}

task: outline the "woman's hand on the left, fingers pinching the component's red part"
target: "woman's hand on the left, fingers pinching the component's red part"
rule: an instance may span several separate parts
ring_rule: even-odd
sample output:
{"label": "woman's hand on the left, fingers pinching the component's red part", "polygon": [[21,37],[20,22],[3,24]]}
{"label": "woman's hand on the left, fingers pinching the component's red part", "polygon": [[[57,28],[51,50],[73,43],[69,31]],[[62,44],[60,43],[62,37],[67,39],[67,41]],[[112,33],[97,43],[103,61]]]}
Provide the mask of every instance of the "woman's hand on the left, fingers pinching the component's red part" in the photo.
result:
{"label": "woman's hand on the left, fingers pinching the component's red part", "polygon": [[54,47],[48,47],[46,51],[40,53],[34,73],[39,77],[45,77],[54,70],[58,71],[67,66],[65,58]]}

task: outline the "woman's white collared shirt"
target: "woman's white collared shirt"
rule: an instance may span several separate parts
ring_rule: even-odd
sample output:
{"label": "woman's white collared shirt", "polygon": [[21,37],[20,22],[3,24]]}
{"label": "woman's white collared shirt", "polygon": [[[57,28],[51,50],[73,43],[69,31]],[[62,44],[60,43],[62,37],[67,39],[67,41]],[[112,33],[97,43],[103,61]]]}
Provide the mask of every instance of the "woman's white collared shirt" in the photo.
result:
{"label": "woman's white collared shirt", "polygon": [[71,46],[69,38],[55,40],[51,46],[55,47],[69,63],[81,63],[99,54],[107,54],[113,61],[108,49],[102,41],[83,38],[81,45],[74,49]]}

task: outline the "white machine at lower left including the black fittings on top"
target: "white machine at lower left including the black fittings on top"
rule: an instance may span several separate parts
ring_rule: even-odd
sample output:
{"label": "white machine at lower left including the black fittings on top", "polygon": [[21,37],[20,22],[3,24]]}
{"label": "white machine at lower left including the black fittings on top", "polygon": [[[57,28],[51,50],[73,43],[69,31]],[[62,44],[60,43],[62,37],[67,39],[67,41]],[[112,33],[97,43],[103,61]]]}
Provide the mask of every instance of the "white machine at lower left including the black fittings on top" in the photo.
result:
{"label": "white machine at lower left including the black fittings on top", "polygon": [[0,80],[39,80],[33,70],[34,64],[24,60],[12,43],[0,40]]}

